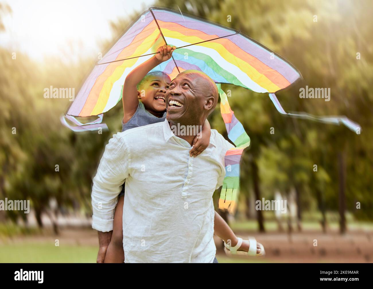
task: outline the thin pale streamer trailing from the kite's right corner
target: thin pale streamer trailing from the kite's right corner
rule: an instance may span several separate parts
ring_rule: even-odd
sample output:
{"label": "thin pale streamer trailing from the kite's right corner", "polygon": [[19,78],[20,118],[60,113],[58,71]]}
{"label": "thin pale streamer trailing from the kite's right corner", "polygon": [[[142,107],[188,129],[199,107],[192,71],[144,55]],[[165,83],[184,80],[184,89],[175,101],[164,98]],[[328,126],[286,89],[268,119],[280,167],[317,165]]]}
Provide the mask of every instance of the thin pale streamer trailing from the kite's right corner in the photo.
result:
{"label": "thin pale streamer trailing from the kite's right corner", "polygon": [[312,116],[311,114],[307,114],[307,113],[287,113],[285,110],[283,110],[275,93],[270,93],[269,98],[272,100],[273,104],[275,105],[279,113],[287,114],[289,116],[301,117],[304,119],[317,120],[319,122],[324,122],[324,123],[333,123],[333,124],[343,123],[345,126],[347,126],[349,129],[351,129],[355,133],[360,134],[361,132],[361,126],[358,123],[352,122],[350,119],[348,119],[345,116],[335,116],[335,117],[322,116],[321,117],[321,116]]}

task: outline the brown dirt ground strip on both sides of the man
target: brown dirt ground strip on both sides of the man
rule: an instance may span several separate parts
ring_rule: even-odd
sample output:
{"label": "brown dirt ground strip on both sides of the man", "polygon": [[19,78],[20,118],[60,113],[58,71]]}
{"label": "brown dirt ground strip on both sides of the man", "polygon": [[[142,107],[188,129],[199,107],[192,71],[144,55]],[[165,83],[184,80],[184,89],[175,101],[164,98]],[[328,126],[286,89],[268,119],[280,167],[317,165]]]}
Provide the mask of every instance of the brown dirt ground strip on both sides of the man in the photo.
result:
{"label": "brown dirt ground strip on both sides of the man", "polygon": [[[266,249],[266,257],[260,260],[244,258],[248,262],[373,262],[372,232],[356,231],[345,236],[313,231],[294,233],[291,236],[286,233],[237,232],[237,236],[242,238],[255,236]],[[97,232],[90,228],[65,228],[61,230],[59,236],[46,230],[37,236],[3,238],[0,239],[0,244],[54,244],[56,239],[63,244],[98,247]],[[317,246],[314,246],[316,240]],[[225,258],[222,242],[216,236],[215,243],[218,256]]]}

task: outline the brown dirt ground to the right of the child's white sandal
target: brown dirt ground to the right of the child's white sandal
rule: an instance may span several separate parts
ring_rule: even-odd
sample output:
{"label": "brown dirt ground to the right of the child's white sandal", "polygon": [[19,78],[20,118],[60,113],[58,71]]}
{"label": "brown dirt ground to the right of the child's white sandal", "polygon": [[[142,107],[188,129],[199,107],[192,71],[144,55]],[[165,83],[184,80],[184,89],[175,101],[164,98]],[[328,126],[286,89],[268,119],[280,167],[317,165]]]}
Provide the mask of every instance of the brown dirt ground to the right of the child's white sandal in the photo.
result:
{"label": "brown dirt ground to the right of the child's white sandal", "polygon": [[[237,236],[255,236],[266,250],[266,256],[261,259],[268,262],[373,262],[372,232],[354,232],[344,236],[318,231],[294,233],[291,236],[286,233],[238,232]],[[219,239],[216,241],[219,246]]]}

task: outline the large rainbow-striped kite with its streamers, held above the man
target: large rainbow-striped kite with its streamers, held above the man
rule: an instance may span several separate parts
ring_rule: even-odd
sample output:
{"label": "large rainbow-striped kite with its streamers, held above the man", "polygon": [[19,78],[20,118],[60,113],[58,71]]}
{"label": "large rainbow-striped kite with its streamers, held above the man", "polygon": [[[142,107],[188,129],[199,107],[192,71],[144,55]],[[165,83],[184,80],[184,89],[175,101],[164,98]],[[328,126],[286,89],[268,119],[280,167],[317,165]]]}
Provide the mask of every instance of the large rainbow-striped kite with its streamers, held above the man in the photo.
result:
{"label": "large rainbow-striped kite with its streamers, held above the man", "polygon": [[[128,73],[153,57],[158,47],[164,44],[176,46],[176,50],[172,58],[154,70],[163,71],[171,79],[184,70],[200,70],[217,84],[235,84],[255,92],[269,93],[277,110],[283,114],[286,112],[274,93],[301,77],[291,64],[240,31],[170,9],[151,7],[129,26],[95,65],[66,115],[61,118],[62,123],[74,131],[106,128],[102,123],[103,113],[113,108],[122,98],[122,87]],[[250,139],[234,117],[220,87],[219,92],[228,135],[237,146],[235,150],[228,151],[229,155],[227,153],[227,163],[228,159],[234,159],[234,164],[229,167],[232,170],[227,171],[226,178],[238,178],[239,158]],[[342,122],[354,130],[358,127],[347,118],[289,115],[332,123]],[[88,116],[98,118],[89,123],[81,123],[76,119]],[[236,202],[237,194],[232,192],[238,191],[238,186],[232,184],[237,182],[225,183],[227,190],[221,196],[224,200],[220,200],[220,207],[229,206],[229,203],[235,207],[233,203]]]}

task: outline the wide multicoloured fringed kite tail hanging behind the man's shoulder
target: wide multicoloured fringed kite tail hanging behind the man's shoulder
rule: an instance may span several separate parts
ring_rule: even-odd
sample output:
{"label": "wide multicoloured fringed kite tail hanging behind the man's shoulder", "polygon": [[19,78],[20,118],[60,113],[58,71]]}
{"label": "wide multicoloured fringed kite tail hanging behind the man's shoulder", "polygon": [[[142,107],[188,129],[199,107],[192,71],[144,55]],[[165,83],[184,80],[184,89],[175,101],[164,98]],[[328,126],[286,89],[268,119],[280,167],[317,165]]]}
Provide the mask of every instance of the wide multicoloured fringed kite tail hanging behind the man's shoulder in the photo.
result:
{"label": "wide multicoloured fringed kite tail hanging behind the man's shoulder", "polygon": [[236,145],[225,154],[225,178],[219,198],[219,209],[228,209],[233,214],[237,208],[239,194],[239,161],[244,148],[250,145],[250,138],[242,124],[236,119],[228,103],[228,97],[216,84],[220,96],[220,113],[222,114],[228,138]]}

